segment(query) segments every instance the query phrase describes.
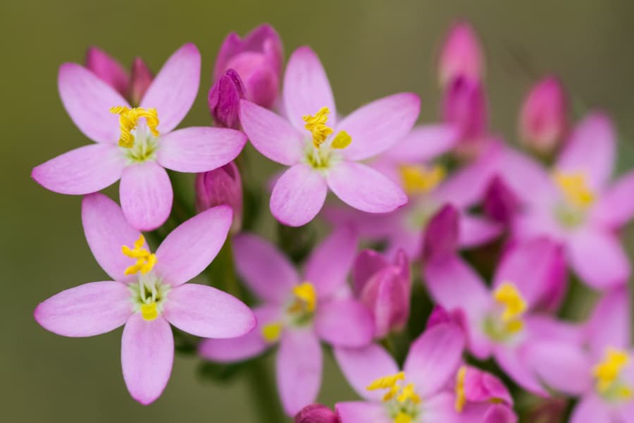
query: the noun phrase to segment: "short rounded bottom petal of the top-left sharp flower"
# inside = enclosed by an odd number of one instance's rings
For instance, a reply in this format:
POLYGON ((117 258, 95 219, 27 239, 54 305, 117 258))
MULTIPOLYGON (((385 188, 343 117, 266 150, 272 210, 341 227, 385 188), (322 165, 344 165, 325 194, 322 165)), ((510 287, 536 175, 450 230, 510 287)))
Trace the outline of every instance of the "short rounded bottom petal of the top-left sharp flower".
POLYGON ((139 231, 161 226, 172 209, 172 184, 156 161, 128 166, 119 185, 119 200, 125 219, 139 231))

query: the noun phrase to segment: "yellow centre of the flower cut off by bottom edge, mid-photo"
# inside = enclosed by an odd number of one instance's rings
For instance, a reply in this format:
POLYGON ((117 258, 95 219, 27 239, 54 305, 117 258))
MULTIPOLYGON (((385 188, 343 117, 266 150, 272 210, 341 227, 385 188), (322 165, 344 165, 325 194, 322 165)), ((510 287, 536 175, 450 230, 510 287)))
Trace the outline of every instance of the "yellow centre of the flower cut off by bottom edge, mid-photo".
POLYGON ((421 397, 416 394, 414 384, 402 386, 405 373, 399 372, 391 376, 381 377, 366 388, 368 391, 387 389, 383 403, 394 423, 411 423, 418 416, 421 397))

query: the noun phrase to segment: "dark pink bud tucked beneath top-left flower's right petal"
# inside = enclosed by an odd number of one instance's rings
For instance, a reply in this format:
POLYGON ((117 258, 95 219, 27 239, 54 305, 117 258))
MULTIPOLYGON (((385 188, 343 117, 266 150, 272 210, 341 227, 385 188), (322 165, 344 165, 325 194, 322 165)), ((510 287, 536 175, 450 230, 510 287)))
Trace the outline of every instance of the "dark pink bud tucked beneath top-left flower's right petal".
POLYGON ((231 232, 242 225, 242 179, 234 162, 196 176, 196 208, 203 212, 211 207, 227 204, 233 209, 231 232))

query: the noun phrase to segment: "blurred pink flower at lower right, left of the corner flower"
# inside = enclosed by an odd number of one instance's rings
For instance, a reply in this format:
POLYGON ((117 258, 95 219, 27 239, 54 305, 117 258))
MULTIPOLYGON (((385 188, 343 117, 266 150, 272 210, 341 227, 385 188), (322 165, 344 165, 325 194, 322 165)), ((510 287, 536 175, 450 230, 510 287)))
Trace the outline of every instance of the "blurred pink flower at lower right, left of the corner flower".
POLYGON ((447 311, 461 309, 468 349, 475 357, 493 355, 506 374, 528 391, 547 396, 526 366, 525 346, 534 338, 580 338, 575 326, 535 313, 534 305, 554 282, 561 250, 546 239, 511 247, 500 262, 491 291, 457 255, 433 257, 424 268, 432 298, 447 311))

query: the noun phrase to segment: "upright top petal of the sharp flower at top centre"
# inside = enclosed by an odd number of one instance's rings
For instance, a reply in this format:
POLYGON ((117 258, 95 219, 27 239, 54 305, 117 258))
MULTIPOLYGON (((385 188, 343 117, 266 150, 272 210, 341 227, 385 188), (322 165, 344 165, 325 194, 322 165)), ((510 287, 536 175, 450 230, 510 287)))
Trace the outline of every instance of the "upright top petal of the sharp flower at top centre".
POLYGON ((321 61, 310 47, 299 47, 288 59, 282 95, 286 116, 302 133, 306 131, 302 116, 314 115, 324 106, 330 109, 328 126, 335 126, 337 108, 330 82, 321 61))

